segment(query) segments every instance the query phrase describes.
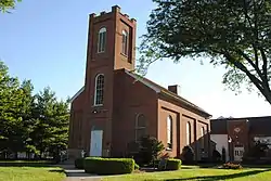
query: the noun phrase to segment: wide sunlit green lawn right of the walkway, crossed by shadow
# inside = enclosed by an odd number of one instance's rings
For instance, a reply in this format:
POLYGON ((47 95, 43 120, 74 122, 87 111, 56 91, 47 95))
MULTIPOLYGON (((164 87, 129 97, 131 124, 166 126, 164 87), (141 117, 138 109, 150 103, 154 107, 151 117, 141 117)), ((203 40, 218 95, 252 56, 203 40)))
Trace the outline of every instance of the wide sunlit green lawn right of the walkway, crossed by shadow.
POLYGON ((216 168, 183 168, 179 171, 133 173, 105 177, 103 181, 269 181, 270 168, 246 168, 243 170, 225 170, 216 168))

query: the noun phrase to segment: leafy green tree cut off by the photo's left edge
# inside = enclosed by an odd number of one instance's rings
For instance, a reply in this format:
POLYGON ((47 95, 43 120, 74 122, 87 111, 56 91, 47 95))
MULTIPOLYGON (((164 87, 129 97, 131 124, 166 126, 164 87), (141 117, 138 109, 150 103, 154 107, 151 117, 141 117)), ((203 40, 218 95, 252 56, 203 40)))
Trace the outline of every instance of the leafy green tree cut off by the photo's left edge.
POLYGON ((0 150, 24 150, 23 108, 24 92, 17 78, 10 77, 8 67, 0 62, 0 150))

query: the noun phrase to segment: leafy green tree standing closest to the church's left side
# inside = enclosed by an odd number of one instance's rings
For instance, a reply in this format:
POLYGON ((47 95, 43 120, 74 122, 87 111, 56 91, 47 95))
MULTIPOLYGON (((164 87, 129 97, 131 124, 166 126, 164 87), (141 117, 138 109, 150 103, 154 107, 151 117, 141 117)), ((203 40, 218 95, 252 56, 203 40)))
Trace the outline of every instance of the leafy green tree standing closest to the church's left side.
POLYGON ((35 96, 33 118, 36 126, 31 133, 33 144, 42 153, 49 152, 56 158, 61 151, 67 148, 68 103, 57 101, 50 88, 44 88, 35 96))

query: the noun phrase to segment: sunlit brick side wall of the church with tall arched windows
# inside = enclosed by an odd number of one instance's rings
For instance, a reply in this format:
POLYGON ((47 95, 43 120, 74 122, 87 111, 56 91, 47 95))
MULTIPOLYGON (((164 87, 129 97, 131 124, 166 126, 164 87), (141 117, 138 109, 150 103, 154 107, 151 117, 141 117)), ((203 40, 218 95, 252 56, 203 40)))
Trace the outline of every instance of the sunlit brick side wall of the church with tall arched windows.
MULTIPOLYGON (((158 100, 158 139, 162 140, 164 143, 167 142, 166 137, 166 118, 168 116, 173 116, 177 118, 173 122, 173 135, 177 135, 176 140, 173 140, 173 150, 171 152, 168 152, 168 154, 172 157, 180 156, 183 146, 186 145, 186 122, 191 124, 191 141, 192 141, 192 147, 195 150, 196 158, 199 159, 199 147, 198 147, 198 140, 201 138, 199 133, 199 126, 209 127, 209 120, 205 119, 203 116, 199 116, 199 114, 190 112, 180 105, 172 104, 168 102, 167 99, 162 98, 158 100), (178 133, 178 124, 180 122, 178 133), (176 133, 175 133, 176 132, 176 133), (180 135, 180 138, 178 138, 180 135), (179 140, 179 141, 178 141, 179 140), (180 144, 178 144, 178 142, 180 144), (177 145, 176 145, 177 144, 177 145)), ((206 135, 206 150, 209 153, 209 135, 206 135)))

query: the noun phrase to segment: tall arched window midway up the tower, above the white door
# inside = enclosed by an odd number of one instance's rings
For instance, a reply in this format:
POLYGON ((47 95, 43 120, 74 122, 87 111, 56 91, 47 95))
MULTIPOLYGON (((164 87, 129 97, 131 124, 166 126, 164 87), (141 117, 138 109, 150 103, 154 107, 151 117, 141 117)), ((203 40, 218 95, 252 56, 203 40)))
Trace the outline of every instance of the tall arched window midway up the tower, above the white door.
POLYGON ((104 75, 99 74, 95 77, 94 105, 103 105, 104 96, 104 75))

